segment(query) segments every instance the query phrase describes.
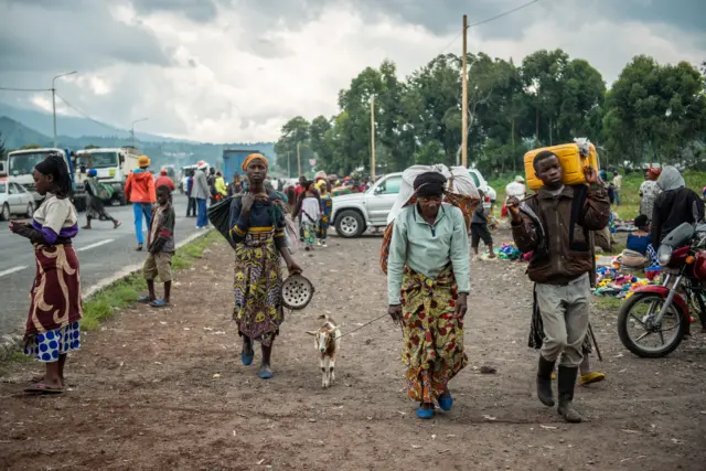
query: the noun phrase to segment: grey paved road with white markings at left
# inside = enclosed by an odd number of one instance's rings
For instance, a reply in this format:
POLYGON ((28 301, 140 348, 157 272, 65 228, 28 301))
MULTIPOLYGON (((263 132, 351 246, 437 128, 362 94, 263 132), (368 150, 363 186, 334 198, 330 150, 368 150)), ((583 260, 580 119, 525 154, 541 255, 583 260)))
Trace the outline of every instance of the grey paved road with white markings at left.
MULTIPOLYGON (((176 242, 196 232, 194 218, 186 218, 186 197, 174 194, 176 211, 176 242)), ((132 206, 113 206, 108 212, 122 223, 113 229, 109 222, 93 224, 92 231, 79 231, 74 239, 74 248, 81 261, 81 283, 85 292, 98 281, 121 268, 140 264, 145 251, 135 251, 135 225, 132 206)), ((79 225, 86 222, 85 213, 79 213, 79 225)), ((146 234, 147 228, 142 229, 146 234)), ((34 255, 32 246, 24 237, 8 229, 7 222, 0 222, 0 335, 22 329, 30 306, 29 290, 34 279, 34 255)))

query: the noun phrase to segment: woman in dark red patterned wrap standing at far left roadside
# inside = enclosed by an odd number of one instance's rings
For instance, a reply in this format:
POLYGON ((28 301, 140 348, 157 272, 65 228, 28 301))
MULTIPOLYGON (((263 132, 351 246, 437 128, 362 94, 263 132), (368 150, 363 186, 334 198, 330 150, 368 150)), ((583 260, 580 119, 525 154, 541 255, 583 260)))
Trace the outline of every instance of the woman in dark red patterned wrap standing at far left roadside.
POLYGON ((32 243, 36 275, 24 331, 24 353, 44 363, 44 377, 25 390, 64 392, 64 365, 81 347, 82 318, 78 258, 72 239, 78 233, 76 208, 68 200, 71 176, 65 160, 52 154, 34 168, 36 191, 46 196, 32 223, 10 222, 10 231, 32 243))

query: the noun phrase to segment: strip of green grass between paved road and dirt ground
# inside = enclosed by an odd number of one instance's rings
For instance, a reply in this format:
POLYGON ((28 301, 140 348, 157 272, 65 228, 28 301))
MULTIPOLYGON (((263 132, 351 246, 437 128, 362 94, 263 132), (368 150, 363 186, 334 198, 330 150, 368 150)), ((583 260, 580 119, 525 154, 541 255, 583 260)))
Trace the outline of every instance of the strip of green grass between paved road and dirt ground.
MULTIPOLYGON (((172 269, 179 271, 190 267, 196 259, 203 257, 203 251, 211 244, 220 238, 221 234, 212 231, 176 249, 172 258, 172 269)), ((145 291, 147 291, 147 283, 140 272, 106 287, 84 301, 84 318, 81 321, 81 329, 84 331, 97 329, 100 321, 113 315, 117 309, 135 304, 139 293, 145 291)))

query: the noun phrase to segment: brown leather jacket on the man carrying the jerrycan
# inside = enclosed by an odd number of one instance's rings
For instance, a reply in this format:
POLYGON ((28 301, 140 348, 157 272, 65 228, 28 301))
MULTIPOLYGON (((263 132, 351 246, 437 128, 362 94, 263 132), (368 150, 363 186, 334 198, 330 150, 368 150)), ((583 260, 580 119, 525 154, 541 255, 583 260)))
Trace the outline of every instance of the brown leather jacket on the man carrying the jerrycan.
POLYGON ((610 217, 605 188, 564 186, 557 196, 542 189, 520 210, 522 223, 513 223, 512 235, 522 253, 534 251, 532 281, 565 285, 593 269, 590 231, 602 229, 610 217))

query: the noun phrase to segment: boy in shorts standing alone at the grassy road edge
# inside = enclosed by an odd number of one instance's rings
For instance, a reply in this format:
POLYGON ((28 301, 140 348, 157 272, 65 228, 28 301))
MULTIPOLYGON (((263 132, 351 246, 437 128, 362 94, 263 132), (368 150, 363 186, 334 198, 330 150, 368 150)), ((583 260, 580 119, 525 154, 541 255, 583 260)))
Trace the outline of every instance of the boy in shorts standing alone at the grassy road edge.
POLYGON ((172 193, 169 188, 164 185, 158 188, 158 206, 152 211, 150 233, 147 238, 149 254, 142 267, 149 295, 139 299, 140 302, 149 303, 153 308, 169 306, 169 297, 172 288, 175 215, 171 202, 172 193), (164 283, 164 299, 157 299, 154 295, 154 278, 158 275, 164 283))

